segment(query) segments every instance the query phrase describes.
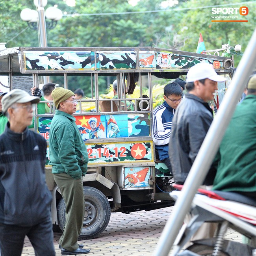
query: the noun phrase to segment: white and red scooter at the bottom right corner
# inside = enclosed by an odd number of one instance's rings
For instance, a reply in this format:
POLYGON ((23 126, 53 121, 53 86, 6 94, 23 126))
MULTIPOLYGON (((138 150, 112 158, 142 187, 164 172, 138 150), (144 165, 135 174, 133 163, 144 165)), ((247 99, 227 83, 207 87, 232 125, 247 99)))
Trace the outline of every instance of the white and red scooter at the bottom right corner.
MULTIPOLYGON (((181 185, 174 187, 182 188, 181 185)), ((170 195, 176 200, 180 193, 176 190, 170 195)), ((172 256, 256 256, 256 199, 232 192, 198 189, 190 213, 191 221, 180 229, 172 256), (193 245, 182 250, 204 222, 218 223, 215 237, 192 241, 193 245), (249 243, 224 239, 228 227, 247 237, 249 243)))

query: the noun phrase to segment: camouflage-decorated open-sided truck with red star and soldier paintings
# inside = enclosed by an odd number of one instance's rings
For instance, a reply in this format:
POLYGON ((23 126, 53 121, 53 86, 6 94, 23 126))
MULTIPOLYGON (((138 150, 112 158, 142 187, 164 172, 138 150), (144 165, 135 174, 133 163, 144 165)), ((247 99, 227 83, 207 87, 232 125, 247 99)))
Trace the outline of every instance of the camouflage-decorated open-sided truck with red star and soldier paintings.
MULTIPOLYGON (((83 177, 85 217, 81 238, 99 236, 111 212, 173 206, 174 201, 163 189, 163 185, 171 186, 172 177, 166 176, 166 165, 156 159, 151 136, 152 111, 157 105, 153 92, 156 84, 185 79, 189 68, 197 63, 211 63, 218 74, 232 77, 231 58, 162 48, 18 47, 0 51, 0 81, 3 76, 8 78, 5 84, 0 82, 1 88, 12 90, 14 79, 22 81, 27 76, 32 78, 30 87, 39 87, 43 78, 55 76, 61 77, 60 86, 67 89, 74 76, 91 83, 91 91, 78 100, 74 113, 89 155, 88 171, 83 177), (98 81, 109 78, 117 80, 115 98, 104 98, 98 90, 98 81), (128 109, 129 104, 133 109, 128 109)), ((219 86, 225 89, 227 84, 219 86)), ((56 109, 51 101, 44 104, 50 111, 39 114, 35 110, 34 130, 49 143, 56 109)), ((63 229, 65 202, 48 161, 47 154, 45 173, 53 197, 52 221, 63 229)))

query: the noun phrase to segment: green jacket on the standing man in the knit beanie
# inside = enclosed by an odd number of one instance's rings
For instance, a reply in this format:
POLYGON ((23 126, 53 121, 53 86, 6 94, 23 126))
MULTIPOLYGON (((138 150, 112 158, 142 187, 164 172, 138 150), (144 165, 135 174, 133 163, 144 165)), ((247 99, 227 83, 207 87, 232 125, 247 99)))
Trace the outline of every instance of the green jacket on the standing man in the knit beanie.
POLYGON ((87 172, 87 149, 76 126, 76 119, 57 110, 50 127, 49 164, 52 173, 67 173, 78 180, 87 172))

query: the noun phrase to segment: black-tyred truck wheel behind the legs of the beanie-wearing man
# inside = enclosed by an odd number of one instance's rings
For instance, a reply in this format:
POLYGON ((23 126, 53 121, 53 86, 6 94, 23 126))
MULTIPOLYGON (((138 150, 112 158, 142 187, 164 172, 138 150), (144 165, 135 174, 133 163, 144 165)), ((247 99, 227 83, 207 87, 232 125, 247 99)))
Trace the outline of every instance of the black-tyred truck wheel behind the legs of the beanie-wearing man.
MULTIPOLYGON (((98 237, 108 226, 110 219, 110 205, 106 196, 94 187, 83 187, 85 200, 85 214, 83 228, 80 234, 82 239, 93 239, 98 237)), ((59 200, 57 214, 58 224, 61 230, 66 221, 66 206, 64 199, 59 200)))

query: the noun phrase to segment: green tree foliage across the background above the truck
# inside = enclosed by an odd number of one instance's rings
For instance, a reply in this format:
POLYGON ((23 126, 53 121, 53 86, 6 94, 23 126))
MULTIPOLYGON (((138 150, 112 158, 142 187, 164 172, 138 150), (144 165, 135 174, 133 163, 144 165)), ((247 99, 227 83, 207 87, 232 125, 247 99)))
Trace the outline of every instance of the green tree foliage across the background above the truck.
MULTIPOLYGON (((128 0, 76 0, 76 6, 69 7, 63 0, 48 0, 45 9, 57 4, 64 13, 56 28, 47 30, 48 46, 156 46, 195 52, 202 33, 206 50, 221 48, 230 39, 232 46, 239 44, 244 52, 256 27, 253 1, 246 4, 249 15, 238 14, 248 22, 211 22, 212 7, 240 7, 239 0, 232 4, 228 0, 180 0, 173 7, 163 7, 162 2, 139 0, 131 6, 128 0)), ((0 38, 6 47, 39 46, 37 30, 20 19, 25 7, 35 9, 33 0, 0 0, 0 38)), ((86 79, 74 79, 72 86, 88 90, 86 79)), ((102 92, 105 89, 106 80, 102 80, 102 92)))

